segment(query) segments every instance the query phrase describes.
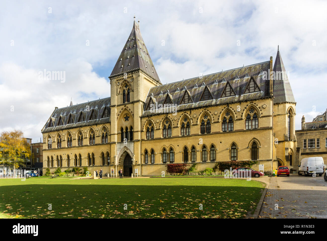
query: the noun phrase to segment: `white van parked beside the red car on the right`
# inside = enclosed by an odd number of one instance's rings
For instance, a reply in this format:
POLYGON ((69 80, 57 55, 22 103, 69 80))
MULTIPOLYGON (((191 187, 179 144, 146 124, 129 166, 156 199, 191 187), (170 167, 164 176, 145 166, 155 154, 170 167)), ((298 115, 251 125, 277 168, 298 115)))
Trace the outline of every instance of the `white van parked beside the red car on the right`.
POLYGON ((313 175, 313 173, 319 174, 319 176, 322 176, 322 174, 325 171, 325 165, 324 160, 322 157, 307 157, 303 158, 301 160, 299 167, 299 175, 304 174, 305 176, 313 175))

